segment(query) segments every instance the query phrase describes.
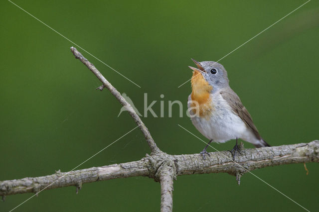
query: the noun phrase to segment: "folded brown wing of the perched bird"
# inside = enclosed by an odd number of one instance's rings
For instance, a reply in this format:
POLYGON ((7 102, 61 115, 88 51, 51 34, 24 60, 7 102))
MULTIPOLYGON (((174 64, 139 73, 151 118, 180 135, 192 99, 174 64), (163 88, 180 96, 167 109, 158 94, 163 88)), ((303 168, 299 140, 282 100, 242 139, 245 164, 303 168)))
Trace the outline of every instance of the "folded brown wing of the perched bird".
POLYGON ((243 106, 243 104, 241 103, 237 94, 231 89, 222 90, 220 94, 222 98, 231 106, 234 113, 239 115, 239 117, 243 119, 243 121, 252 129, 252 131, 258 139, 261 139, 261 136, 259 135, 259 132, 253 122, 253 119, 251 118, 246 107, 243 106))

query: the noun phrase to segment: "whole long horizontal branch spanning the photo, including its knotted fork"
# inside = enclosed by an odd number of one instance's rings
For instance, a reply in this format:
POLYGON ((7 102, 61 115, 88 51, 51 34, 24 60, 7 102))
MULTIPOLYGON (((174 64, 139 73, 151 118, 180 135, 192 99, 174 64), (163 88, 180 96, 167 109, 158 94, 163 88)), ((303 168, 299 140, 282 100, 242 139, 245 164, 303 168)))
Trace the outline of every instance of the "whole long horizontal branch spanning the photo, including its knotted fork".
MULTIPOLYGON (((45 187, 47 187, 45 190, 67 186, 81 188, 84 183, 134 176, 147 176, 160 182, 166 181, 168 184, 162 189, 171 192, 172 183, 170 183, 170 178, 174 179, 175 176, 179 175, 224 172, 240 177, 247 171, 268 166, 291 163, 318 163, 319 141, 244 149, 241 154, 241 156, 235 158, 236 162, 233 162, 231 153, 228 151, 210 152, 209 157, 206 157, 205 160, 200 154, 168 155, 160 152, 147 155, 140 161, 92 167, 65 173, 56 172, 53 175, 43 177, 0 181, 0 196, 37 193, 45 187), (167 166, 170 168, 169 175, 164 174, 165 171, 167 173, 167 166)), ((167 203, 170 202, 168 201, 167 203)), ((170 205, 166 206, 169 207, 170 205)))

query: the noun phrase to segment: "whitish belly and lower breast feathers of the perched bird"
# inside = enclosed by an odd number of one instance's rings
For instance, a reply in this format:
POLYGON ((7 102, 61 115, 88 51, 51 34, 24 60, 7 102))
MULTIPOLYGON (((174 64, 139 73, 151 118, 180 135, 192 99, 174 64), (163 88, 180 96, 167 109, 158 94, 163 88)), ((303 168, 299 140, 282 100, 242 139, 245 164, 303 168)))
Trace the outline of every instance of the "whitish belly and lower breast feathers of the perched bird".
POLYGON ((236 138, 250 143, 255 143, 258 140, 246 123, 233 113, 232 108, 221 96, 212 97, 212 102, 214 102, 215 108, 210 118, 198 116, 191 118, 196 129, 206 138, 219 143, 236 138))

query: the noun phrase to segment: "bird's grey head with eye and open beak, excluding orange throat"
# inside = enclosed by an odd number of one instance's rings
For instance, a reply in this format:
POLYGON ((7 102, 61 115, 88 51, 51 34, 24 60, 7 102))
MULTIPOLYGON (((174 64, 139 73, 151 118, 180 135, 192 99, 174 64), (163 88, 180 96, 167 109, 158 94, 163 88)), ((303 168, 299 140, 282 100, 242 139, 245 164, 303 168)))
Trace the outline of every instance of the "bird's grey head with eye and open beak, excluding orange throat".
POLYGON ((229 87, 227 71, 224 66, 214 61, 197 62, 194 59, 192 59, 192 61, 196 64, 198 69, 190 66, 189 68, 194 70, 197 74, 200 73, 209 85, 214 88, 213 91, 229 87))

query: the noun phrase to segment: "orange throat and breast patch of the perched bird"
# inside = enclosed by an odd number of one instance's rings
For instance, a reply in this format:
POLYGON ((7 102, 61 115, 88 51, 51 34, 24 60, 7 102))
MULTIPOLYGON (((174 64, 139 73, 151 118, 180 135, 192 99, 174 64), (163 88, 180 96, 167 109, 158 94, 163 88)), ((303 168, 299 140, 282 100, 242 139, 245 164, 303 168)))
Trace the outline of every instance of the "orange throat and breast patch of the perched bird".
POLYGON ((193 71, 191 89, 190 98, 192 101, 198 103, 198 105, 194 102, 190 104, 192 112, 199 117, 209 119, 213 110, 213 104, 210 98, 210 92, 213 90, 213 87, 209 85, 201 73, 193 71))

